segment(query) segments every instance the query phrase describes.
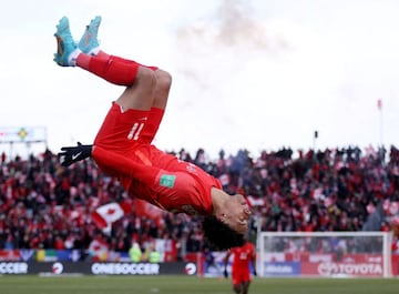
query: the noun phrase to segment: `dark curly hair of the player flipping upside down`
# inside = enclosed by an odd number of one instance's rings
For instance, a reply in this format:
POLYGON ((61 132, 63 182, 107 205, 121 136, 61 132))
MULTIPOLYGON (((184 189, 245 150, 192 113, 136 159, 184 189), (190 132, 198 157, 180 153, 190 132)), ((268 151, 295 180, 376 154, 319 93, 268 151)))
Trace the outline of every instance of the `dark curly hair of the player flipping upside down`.
POLYGON ((244 235, 231 229, 215 215, 205 216, 202 222, 205 239, 215 250, 228 250, 244 245, 244 235))

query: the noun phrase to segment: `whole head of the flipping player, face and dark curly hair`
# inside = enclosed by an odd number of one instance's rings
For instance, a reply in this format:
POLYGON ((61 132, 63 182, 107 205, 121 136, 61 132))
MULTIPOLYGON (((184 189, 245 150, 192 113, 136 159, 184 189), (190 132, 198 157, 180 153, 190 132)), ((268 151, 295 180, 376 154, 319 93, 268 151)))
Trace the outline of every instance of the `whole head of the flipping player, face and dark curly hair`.
POLYGON ((205 237, 219 250, 242 246, 248 231, 249 216, 250 211, 243 195, 228 196, 218 214, 205 217, 205 237))

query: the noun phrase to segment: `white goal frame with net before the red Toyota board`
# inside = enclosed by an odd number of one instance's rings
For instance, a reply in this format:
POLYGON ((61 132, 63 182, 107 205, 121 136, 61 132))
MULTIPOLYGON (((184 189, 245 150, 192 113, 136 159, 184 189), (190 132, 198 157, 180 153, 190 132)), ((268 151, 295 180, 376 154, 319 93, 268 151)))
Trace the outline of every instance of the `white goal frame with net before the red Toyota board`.
POLYGON ((391 232, 259 232, 258 275, 390 277, 391 232))

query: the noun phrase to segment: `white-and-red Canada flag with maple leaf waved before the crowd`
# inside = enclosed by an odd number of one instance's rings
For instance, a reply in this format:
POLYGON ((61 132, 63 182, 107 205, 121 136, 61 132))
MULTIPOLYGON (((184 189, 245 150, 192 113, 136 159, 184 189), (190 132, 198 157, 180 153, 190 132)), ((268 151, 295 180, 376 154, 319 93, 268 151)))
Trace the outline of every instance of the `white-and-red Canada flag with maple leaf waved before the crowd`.
POLYGON ((123 215, 132 212, 132 204, 125 202, 111 202, 99 206, 92 212, 92 221, 103 230, 104 233, 111 233, 112 223, 122 219, 123 215))

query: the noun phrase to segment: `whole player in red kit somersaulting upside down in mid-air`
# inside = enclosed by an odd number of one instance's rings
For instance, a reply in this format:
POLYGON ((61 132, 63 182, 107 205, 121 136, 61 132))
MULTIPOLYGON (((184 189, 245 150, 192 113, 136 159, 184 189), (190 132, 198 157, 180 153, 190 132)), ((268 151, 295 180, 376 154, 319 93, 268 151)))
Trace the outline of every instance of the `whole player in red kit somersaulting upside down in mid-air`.
POLYGON ((165 112, 171 74, 105 53, 98 42, 100 23, 101 17, 95 17, 75 42, 68 18, 62 18, 54 61, 86 70, 124 91, 112 102, 93 144, 62 148, 61 164, 91 156, 131 196, 172 213, 203 215, 204 236, 216 249, 243 245, 250 216, 245 197, 227 194, 217 179, 152 144, 165 112))

